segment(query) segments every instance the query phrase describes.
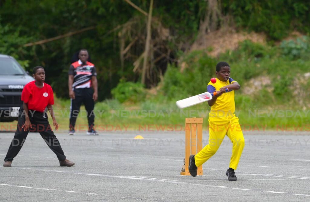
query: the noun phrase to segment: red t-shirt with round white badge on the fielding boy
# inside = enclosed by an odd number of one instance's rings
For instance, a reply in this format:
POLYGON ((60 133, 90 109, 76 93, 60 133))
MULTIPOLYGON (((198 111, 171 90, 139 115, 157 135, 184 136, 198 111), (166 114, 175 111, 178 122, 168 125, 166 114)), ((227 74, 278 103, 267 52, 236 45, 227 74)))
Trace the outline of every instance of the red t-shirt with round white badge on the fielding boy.
POLYGON ((28 104, 29 110, 44 112, 48 104, 54 104, 53 89, 46 83, 42 88, 38 88, 34 82, 31 81, 25 85, 21 100, 28 104))

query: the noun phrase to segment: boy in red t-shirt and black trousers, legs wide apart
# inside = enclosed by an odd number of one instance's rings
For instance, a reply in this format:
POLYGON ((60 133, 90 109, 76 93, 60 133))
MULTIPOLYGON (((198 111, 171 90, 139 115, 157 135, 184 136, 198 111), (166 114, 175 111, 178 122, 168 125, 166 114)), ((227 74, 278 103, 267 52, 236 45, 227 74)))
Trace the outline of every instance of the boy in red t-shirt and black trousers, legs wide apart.
POLYGON ((58 123, 56 122, 52 107, 54 104, 54 94, 51 86, 44 83, 45 71, 43 67, 34 67, 32 76, 35 81, 26 84, 21 94, 23 106, 19 110, 17 129, 7 151, 3 166, 11 166, 13 158, 18 154, 29 131, 31 131, 40 133, 50 149, 56 154, 60 166, 71 167, 74 163, 66 159, 64 151, 47 119, 46 108, 48 108, 51 114, 55 130, 57 130, 58 123))

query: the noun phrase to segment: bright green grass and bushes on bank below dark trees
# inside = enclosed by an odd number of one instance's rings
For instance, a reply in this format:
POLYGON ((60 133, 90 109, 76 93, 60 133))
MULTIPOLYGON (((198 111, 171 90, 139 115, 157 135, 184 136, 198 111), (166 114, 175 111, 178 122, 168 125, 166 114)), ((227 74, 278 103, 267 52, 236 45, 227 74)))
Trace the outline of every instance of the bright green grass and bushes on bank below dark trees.
MULTIPOLYGON (((309 43, 309 40, 304 43, 309 43)), ((282 45, 271 47, 250 41, 242 42, 237 50, 221 54, 219 58, 209 57, 204 51, 189 54, 184 61, 191 65, 183 73, 179 67, 169 66, 157 94, 145 91, 140 84, 122 80, 112 90, 116 99, 96 104, 97 127, 101 127, 101 131, 180 131, 184 130, 186 117, 204 117, 204 129, 207 130, 210 111, 207 103, 178 109, 175 101, 204 92, 210 78, 215 75, 218 60, 229 62, 231 77, 241 84, 241 90, 235 93, 235 113, 243 130, 310 130, 310 82, 304 77, 304 73, 309 71, 310 60, 286 56, 282 45), (260 77, 262 81, 270 82, 251 86, 250 81, 260 81, 260 77), (253 92, 247 93, 245 88, 253 92), (298 96, 293 91, 299 92, 298 96)), ((68 100, 56 100, 56 116, 62 123, 60 129, 67 129, 64 123, 68 123, 69 105, 68 100)), ((85 111, 78 118, 77 125, 86 128, 85 111)))

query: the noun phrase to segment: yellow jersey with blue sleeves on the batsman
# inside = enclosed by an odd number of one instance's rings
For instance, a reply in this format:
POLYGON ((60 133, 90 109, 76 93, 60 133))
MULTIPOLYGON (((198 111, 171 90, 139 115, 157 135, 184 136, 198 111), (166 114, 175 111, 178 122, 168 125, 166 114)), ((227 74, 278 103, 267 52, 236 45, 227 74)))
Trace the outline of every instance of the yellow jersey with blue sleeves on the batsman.
MULTIPOLYGON (((226 82, 221 81, 218 78, 215 79, 216 79, 215 83, 212 83, 211 81, 208 83, 207 91, 209 93, 213 93, 215 90, 219 90, 220 88, 226 85, 232 84, 233 82, 237 82, 232 78, 229 78, 226 82)), ((215 111, 222 111, 228 113, 235 112, 235 92, 233 90, 227 93, 223 93, 216 99, 216 102, 211 107, 211 112, 215 111)))

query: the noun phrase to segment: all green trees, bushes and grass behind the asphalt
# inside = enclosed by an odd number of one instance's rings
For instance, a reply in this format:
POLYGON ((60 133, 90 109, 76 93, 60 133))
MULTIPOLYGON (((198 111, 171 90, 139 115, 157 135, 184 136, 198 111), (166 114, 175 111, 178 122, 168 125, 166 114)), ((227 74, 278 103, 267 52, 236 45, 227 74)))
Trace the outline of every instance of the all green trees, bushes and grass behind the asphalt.
MULTIPOLYGON (((132 2, 148 12, 148 1, 132 2)), ((71 57, 80 48, 89 50, 97 67, 97 125, 128 125, 138 130, 154 124, 183 126, 185 117, 204 117, 207 128, 207 103, 180 110, 175 101, 205 92, 215 76, 216 63, 226 61, 231 65, 231 77, 241 85, 235 93, 241 125, 267 125, 265 129, 272 130, 287 124, 306 127, 310 117, 310 81, 305 75, 310 67, 310 2, 220 2, 216 9, 209 8, 208 1, 198 0, 154 3, 146 85, 140 84, 146 17, 125 1, 1 1, 0 52, 15 57, 30 72, 34 66, 45 67, 46 81, 58 97, 55 109, 60 129, 67 129, 69 122, 67 74, 71 57), (213 15, 210 11, 219 12, 213 15), (201 30, 206 21, 209 24, 201 30), (208 54, 212 47, 189 51, 199 33, 222 25, 263 32, 267 44, 244 41, 216 58, 208 54), (24 46, 86 27, 91 28, 24 46), (281 41, 294 30, 304 36, 281 41)), ((87 124, 86 118, 78 118, 77 124, 87 124)))

